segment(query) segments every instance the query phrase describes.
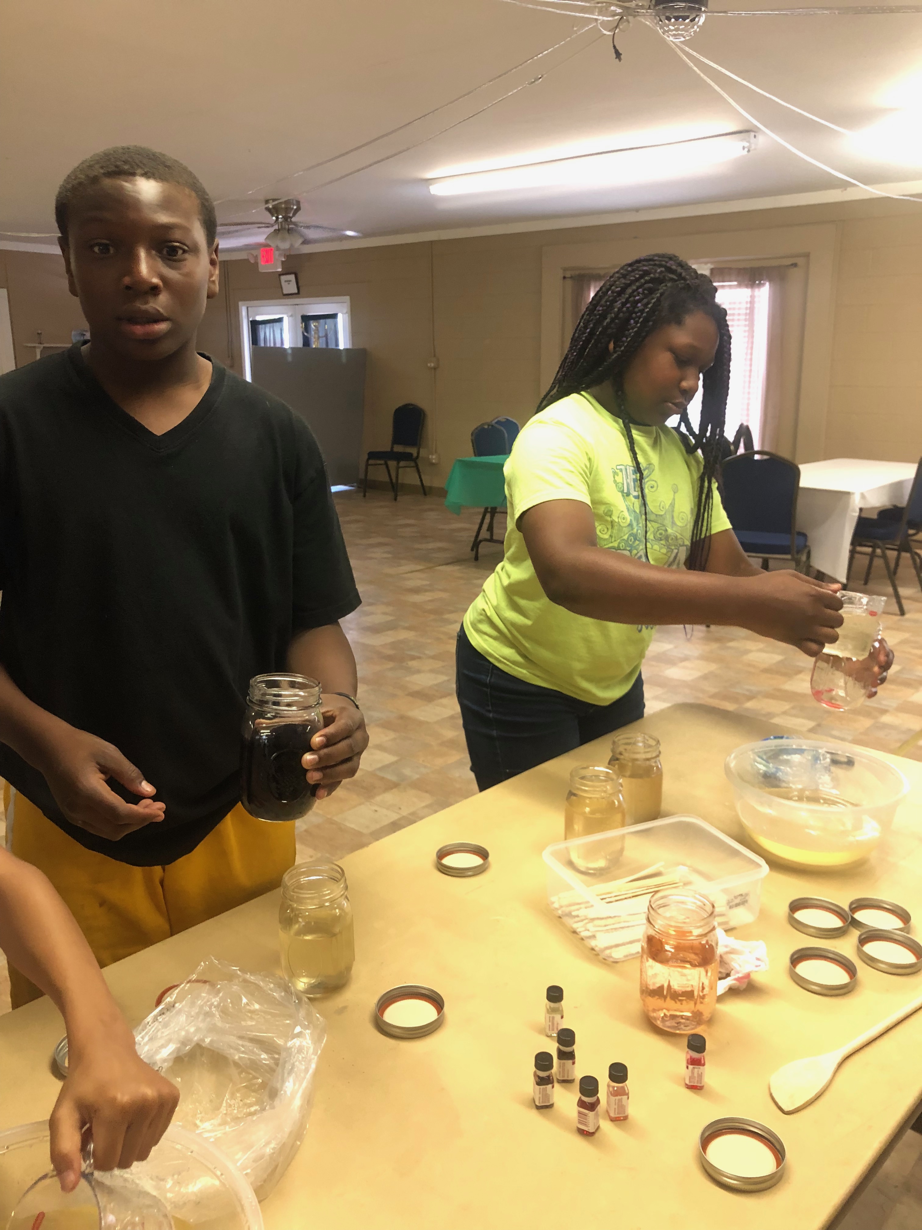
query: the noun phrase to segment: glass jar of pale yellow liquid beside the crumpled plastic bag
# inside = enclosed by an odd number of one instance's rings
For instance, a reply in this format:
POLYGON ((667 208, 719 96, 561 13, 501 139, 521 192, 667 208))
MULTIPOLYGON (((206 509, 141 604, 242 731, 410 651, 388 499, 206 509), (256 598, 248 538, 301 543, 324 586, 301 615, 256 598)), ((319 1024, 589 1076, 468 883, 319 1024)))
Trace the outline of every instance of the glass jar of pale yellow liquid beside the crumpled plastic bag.
POLYGON ((304 995, 344 986, 355 962, 345 872, 336 862, 302 862, 282 878, 282 968, 304 995))

